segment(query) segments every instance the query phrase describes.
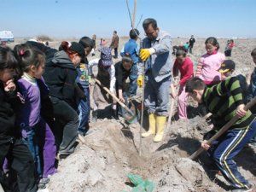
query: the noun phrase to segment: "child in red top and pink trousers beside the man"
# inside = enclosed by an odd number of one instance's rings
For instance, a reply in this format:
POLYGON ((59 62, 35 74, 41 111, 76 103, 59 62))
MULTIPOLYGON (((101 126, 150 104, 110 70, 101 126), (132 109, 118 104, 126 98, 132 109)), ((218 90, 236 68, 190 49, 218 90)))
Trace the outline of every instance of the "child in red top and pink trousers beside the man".
MULTIPOLYGON (((181 73, 179 81, 178 101, 177 101, 177 113, 179 119, 187 119, 187 98, 188 93, 185 92, 185 84, 188 79, 193 76, 193 62, 187 56, 187 53, 183 49, 177 49, 176 60, 173 66, 173 77, 177 77, 178 71, 181 73)), ((177 86, 177 84, 175 84, 177 86)), ((173 95, 175 98, 175 94, 173 95)))

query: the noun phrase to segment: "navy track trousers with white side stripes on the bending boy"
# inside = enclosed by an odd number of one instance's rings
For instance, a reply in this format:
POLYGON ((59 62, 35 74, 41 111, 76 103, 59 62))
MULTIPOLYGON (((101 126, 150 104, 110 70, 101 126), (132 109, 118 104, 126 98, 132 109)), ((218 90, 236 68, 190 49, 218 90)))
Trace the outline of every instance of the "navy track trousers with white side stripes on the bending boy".
POLYGON ((233 158, 252 139, 256 132, 256 121, 242 130, 229 130, 212 143, 208 154, 218 166, 225 179, 235 188, 247 188, 247 180, 238 172, 233 158))

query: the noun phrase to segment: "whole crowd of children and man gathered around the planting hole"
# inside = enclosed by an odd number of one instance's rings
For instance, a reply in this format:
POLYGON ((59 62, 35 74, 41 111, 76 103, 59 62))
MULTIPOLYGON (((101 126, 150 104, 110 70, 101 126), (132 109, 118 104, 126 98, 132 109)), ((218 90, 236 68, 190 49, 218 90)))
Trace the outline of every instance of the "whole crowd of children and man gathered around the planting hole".
MULTIPOLYGON (((212 113, 211 134, 238 116, 240 119, 222 137, 212 145, 204 141, 201 147, 233 191, 253 189, 237 170, 233 158, 247 143, 255 146, 256 142, 255 108, 244 110, 256 95, 255 69, 245 94, 241 78, 232 76, 236 64, 219 52, 217 38, 206 39, 206 54, 201 55, 194 73, 194 63, 189 58, 194 36, 185 48, 176 50, 173 62, 170 34, 151 18, 143 21, 143 30, 146 37, 139 45, 140 32, 131 29, 130 39, 120 52, 122 59, 116 64, 112 59, 118 58, 116 31, 110 46, 101 40, 100 58, 90 61, 87 56, 96 51, 95 35, 80 38, 79 42, 64 41, 59 49, 35 40, 17 44, 14 49, 0 47, 0 182, 6 191, 44 190, 50 176, 57 172, 56 160, 73 154, 79 137, 89 133, 91 78, 101 83, 92 90, 93 121, 98 117, 100 102, 111 103, 115 117, 122 115, 112 94, 125 103, 128 97, 137 95, 137 87, 144 89, 149 127, 142 137, 153 136, 155 143, 164 137, 170 95, 177 98, 179 119, 188 119, 189 96, 204 105, 212 113), (143 69, 139 63, 143 63, 143 69), (96 77, 92 73, 94 66, 98 67, 96 77), (130 79, 129 89, 126 79, 130 79)), ((232 41, 229 50, 233 47, 232 41)), ((251 55, 256 64, 256 49, 251 55)))

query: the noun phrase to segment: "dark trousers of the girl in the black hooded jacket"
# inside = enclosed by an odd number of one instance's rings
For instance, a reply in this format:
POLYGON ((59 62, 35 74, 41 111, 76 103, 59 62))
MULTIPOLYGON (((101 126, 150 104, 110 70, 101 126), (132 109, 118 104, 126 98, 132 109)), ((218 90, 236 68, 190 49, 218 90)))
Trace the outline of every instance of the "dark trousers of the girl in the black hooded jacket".
POLYGON ((78 137, 78 113, 65 101, 55 97, 50 98, 53 103, 55 128, 53 129, 59 154, 73 154, 78 137), (63 125, 63 126, 62 126, 63 125))

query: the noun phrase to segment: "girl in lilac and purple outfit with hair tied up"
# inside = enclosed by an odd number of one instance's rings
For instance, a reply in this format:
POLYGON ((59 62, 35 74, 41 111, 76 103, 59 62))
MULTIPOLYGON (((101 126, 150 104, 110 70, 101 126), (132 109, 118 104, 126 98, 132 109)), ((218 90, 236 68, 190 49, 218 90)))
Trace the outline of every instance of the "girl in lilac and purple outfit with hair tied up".
POLYGON ((18 109, 17 125, 30 149, 37 168, 39 189, 49 183, 49 176, 55 173, 55 137, 41 117, 41 98, 48 96, 44 84, 44 53, 26 44, 15 46, 15 53, 23 71, 18 80, 19 91, 24 101, 18 109), (44 158, 41 159, 41 156, 44 158))

